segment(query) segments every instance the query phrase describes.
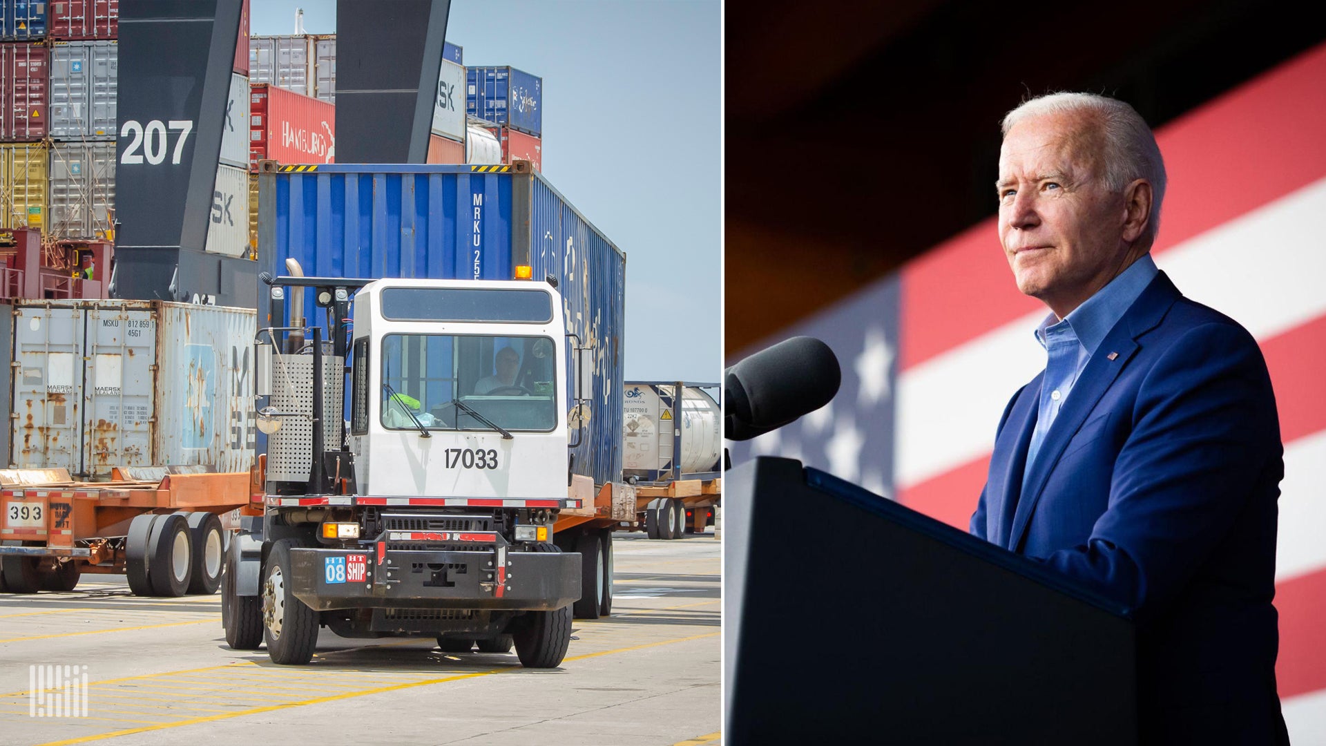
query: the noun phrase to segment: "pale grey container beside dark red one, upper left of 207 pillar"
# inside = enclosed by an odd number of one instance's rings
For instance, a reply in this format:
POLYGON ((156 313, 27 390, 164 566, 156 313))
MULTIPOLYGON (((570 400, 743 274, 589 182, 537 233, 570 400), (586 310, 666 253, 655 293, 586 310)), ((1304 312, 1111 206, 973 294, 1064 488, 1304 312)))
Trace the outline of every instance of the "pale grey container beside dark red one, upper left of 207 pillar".
POLYGON ((115 137, 119 44, 57 41, 50 49, 50 137, 115 137))

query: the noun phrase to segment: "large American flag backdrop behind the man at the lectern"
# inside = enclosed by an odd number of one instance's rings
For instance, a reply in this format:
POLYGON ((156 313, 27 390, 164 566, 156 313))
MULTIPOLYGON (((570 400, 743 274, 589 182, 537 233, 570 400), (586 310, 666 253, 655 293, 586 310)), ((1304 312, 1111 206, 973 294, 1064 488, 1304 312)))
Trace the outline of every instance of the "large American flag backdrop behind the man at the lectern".
MULTIPOLYGON (((1326 45, 1156 139, 1170 185, 1152 255, 1246 327, 1270 368, 1285 443, 1277 681, 1293 742, 1326 745, 1326 45)), ((797 458, 965 530, 1000 413, 1045 366, 1032 335, 1045 313, 1017 292, 991 218, 747 350, 819 337, 843 385, 781 430, 728 442, 732 462, 797 458)))

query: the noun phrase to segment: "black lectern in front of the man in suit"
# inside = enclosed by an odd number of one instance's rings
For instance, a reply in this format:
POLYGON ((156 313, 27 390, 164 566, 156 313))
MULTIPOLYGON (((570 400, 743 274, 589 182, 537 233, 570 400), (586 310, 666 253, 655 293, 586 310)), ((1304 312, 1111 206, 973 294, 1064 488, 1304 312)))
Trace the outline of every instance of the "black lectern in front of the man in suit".
POLYGON ((725 482, 725 743, 1136 742, 1116 604, 796 461, 725 482))

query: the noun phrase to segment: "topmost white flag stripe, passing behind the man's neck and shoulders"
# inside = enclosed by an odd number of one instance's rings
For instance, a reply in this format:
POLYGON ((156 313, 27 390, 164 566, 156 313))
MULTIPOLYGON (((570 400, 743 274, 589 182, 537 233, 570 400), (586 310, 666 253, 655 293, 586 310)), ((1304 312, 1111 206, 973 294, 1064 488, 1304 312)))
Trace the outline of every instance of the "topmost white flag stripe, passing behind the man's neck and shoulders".
MULTIPOLYGON (((1184 295, 1266 338, 1326 313, 1323 236, 1326 179, 1193 236, 1156 263, 1184 295)), ((900 488, 989 453, 1004 405, 1045 365, 1032 337, 1041 319, 1005 324, 899 376, 900 488)))

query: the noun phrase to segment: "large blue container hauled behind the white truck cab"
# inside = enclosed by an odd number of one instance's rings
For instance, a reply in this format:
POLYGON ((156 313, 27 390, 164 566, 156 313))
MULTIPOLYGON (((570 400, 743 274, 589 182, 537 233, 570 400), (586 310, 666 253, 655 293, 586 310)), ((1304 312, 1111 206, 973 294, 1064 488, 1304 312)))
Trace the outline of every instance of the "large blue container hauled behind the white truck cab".
MULTIPOLYGON (((622 479, 626 255, 541 174, 517 166, 284 169, 292 170, 259 175, 259 261, 273 276, 286 273, 286 258, 321 277, 509 280, 517 264, 532 265, 534 277, 556 276, 568 331, 598 358, 574 470, 597 485, 622 479)), ((312 296, 304 316, 321 320, 312 296)))

